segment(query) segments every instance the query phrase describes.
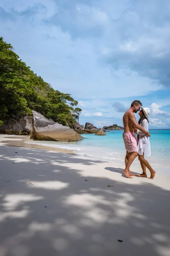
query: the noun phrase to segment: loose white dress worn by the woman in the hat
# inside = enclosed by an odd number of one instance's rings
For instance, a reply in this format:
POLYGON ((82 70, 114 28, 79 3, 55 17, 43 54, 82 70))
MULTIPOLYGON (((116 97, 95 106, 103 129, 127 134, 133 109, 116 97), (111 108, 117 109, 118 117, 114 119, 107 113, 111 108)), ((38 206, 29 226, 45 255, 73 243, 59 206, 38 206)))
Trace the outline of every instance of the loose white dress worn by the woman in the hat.
MULTIPOLYGON (((146 130, 148 130, 148 122, 147 119, 144 119, 141 123, 141 126, 146 130)), ((149 137, 147 137, 142 131, 137 130, 136 132, 139 134, 139 140, 138 140, 138 154, 142 155, 143 152, 147 157, 150 157, 151 151, 150 151, 150 140, 149 137)))

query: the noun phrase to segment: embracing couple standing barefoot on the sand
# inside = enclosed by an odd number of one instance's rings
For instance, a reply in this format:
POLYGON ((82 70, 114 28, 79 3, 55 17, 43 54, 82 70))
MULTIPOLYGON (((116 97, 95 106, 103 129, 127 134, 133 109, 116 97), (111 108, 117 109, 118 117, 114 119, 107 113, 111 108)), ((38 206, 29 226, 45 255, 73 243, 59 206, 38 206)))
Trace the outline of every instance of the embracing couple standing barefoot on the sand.
POLYGON ((142 108, 142 103, 139 100, 132 102, 130 108, 125 112, 123 116, 124 133, 123 140, 126 148, 125 156, 125 170, 123 175, 127 178, 135 176, 130 172, 130 165, 133 160, 139 156, 139 161, 142 167, 142 174, 136 175, 137 177, 147 177, 146 167, 150 171, 150 178, 155 177, 156 172, 152 169, 148 161, 144 158, 151 155, 150 151, 150 133, 148 131, 148 115, 150 114, 149 108, 142 108), (139 111, 139 122, 136 121, 134 113, 139 111), (136 135, 137 134, 137 138, 136 135))

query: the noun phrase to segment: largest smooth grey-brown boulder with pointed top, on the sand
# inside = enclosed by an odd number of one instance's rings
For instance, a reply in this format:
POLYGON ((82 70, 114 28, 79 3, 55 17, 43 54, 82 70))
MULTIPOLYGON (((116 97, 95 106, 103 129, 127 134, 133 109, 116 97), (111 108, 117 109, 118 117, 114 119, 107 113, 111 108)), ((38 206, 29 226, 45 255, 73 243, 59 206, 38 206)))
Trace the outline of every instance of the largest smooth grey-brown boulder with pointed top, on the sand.
POLYGON ((32 111, 32 113, 33 129, 31 133, 31 139, 66 142, 82 139, 82 136, 70 127, 60 125, 53 120, 49 120, 36 111, 32 111))

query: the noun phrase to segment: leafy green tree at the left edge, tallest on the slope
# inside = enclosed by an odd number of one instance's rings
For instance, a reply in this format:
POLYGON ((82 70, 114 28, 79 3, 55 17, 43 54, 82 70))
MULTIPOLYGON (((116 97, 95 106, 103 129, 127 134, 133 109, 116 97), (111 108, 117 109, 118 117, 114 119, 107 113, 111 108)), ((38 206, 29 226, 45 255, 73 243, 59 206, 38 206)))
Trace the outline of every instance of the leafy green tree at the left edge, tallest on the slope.
POLYGON ((11 44, 0 38, 0 118, 11 113, 26 113, 25 95, 34 89, 29 82, 30 69, 13 52, 11 44))

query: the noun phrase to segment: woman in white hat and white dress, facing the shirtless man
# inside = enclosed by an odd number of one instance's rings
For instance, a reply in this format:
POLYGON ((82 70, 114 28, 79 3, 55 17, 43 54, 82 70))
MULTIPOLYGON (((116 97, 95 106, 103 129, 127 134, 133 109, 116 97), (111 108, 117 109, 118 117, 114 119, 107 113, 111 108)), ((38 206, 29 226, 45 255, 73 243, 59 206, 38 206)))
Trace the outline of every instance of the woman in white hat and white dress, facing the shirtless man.
MULTIPOLYGON (((148 129, 148 115, 150 114, 150 110, 149 108, 142 108, 141 111, 139 111, 139 125, 141 125, 145 130, 149 130, 148 129)), ((150 170, 150 178, 151 180, 153 180, 153 178, 155 177, 156 172, 152 169, 152 167, 150 166, 150 164, 147 162, 146 159, 144 159, 144 154, 149 157, 151 155, 150 152, 150 141, 149 141, 149 137, 146 136, 146 134, 142 133, 142 131, 137 130, 136 134, 138 134, 137 139, 138 139, 138 154, 139 154, 139 161, 141 163, 141 167, 142 167, 142 174, 136 175, 137 177, 147 177, 146 174, 146 167, 147 169, 150 170)))

